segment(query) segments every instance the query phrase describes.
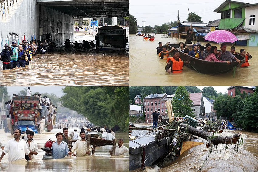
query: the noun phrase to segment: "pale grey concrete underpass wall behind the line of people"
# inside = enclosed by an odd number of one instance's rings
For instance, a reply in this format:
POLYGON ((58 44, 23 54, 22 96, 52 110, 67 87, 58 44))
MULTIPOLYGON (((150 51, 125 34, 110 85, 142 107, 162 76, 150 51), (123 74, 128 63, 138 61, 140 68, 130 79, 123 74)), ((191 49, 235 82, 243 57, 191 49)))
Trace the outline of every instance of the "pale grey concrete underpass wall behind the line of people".
MULTIPOLYGON (((65 39, 73 41, 73 17, 41 6, 41 27, 44 39, 47 33, 56 45, 63 45, 65 39)), ((12 41, 31 41, 39 37, 39 5, 36 0, 23 0, 8 22, 0 23, 0 49, 12 41)))

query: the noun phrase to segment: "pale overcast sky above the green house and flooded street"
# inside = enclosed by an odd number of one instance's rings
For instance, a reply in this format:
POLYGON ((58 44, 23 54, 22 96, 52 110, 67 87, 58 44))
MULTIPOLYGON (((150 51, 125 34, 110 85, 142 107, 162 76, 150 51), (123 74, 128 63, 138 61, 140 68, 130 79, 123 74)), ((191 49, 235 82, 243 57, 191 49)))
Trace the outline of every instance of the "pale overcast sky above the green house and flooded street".
MULTIPOLYGON (((237 2, 246 2, 250 4, 258 3, 258 0, 235 0, 237 2)), ((179 18, 180 22, 188 18, 188 8, 202 18, 202 21, 209 23, 216 19, 221 19, 221 14, 214 12, 225 0, 184 0, 184 1, 149 1, 149 0, 130 0, 129 13, 137 19, 137 25, 143 26, 142 21, 146 21, 144 26, 162 25, 174 22, 179 18)))

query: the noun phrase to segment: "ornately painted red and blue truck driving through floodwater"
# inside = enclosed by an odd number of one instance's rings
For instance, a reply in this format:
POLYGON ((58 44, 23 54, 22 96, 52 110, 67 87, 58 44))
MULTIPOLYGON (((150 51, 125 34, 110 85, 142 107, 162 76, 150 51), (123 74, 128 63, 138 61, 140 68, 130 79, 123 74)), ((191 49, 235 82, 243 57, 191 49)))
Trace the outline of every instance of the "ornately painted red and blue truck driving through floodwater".
POLYGON ((17 96, 13 98, 12 104, 12 126, 25 133, 26 126, 38 133, 40 120, 39 98, 31 96, 17 96))

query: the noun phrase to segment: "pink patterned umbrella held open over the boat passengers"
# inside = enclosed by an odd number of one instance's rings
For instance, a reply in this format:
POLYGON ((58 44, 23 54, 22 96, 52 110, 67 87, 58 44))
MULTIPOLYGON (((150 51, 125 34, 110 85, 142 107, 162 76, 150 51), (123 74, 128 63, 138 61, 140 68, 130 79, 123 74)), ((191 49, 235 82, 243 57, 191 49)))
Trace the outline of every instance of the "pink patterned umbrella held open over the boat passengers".
POLYGON ((238 39, 236 38, 236 36, 226 30, 214 30, 212 32, 209 32, 207 35, 205 35, 204 40, 207 41, 214 41, 214 42, 235 42, 238 41, 238 39))

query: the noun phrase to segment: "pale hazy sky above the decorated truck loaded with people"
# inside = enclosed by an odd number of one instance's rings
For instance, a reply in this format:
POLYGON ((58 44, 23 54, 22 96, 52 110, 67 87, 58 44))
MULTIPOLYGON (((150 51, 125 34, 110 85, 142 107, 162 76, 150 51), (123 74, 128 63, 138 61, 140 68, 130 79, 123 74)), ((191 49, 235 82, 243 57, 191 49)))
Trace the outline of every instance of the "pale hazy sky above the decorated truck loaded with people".
MULTIPOLYGON (((30 86, 30 90, 32 93, 54 93, 56 96, 63 96, 62 88, 65 86, 30 86)), ((19 93, 24 88, 28 88, 28 86, 7 86, 8 95, 12 96, 12 93, 19 93)), ((44 96, 44 95, 43 95, 44 96)))

